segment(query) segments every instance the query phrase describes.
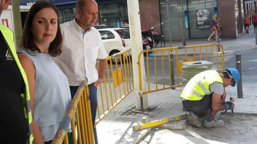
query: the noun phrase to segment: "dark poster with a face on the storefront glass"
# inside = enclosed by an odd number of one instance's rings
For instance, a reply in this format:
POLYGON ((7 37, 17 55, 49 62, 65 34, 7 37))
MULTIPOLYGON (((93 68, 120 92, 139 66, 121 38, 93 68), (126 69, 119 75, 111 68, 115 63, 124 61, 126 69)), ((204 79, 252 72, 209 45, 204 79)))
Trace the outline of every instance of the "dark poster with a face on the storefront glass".
POLYGON ((196 11, 196 22, 197 29, 206 29, 210 28, 210 11, 209 10, 197 10, 196 11))

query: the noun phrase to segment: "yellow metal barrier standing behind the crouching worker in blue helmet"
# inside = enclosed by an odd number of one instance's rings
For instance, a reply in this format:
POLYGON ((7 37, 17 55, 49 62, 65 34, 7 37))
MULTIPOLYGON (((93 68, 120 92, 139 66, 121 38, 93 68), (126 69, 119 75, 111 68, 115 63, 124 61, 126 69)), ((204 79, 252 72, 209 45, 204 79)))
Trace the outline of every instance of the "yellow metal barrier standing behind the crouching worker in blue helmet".
MULTIPOLYGON (((160 48, 160 49, 151 49, 143 50, 138 55, 138 74, 139 74, 139 95, 140 95, 140 104, 141 111, 143 111, 143 95, 147 93, 152 93, 160 90, 166 90, 170 88, 176 88, 182 86, 180 84, 182 70, 182 62, 189 61, 210 61, 216 63, 214 69, 219 72, 219 70, 224 70, 224 49, 223 45, 218 44, 207 44, 207 45, 190 45, 183 47, 169 47, 169 48, 160 48), (219 47, 221 52, 219 52, 219 47), (164 55, 164 53, 166 55, 164 55), (146 90, 143 90, 142 86, 142 70, 141 70, 141 61, 140 57, 144 54, 146 56, 145 62, 145 71, 146 79, 143 81, 147 82, 146 90), (172 55, 173 54, 173 55, 172 55), (165 57, 168 55, 168 58, 165 57), (150 58, 150 56, 152 58, 150 58), (175 62, 171 61, 174 56, 175 62), (168 62, 167 62, 168 61, 168 62), (174 62, 174 63, 173 63, 174 62), (176 70, 172 70, 172 63, 176 65, 176 70), (149 69, 149 65, 154 65, 154 71, 149 69), (161 71, 157 72, 157 67, 161 67, 161 71), (150 77, 150 71, 154 72, 154 79, 150 77), (161 73, 161 76, 158 74, 161 73), (172 78, 176 75, 176 78, 172 78), (158 78, 160 78, 158 80, 158 78), (152 81, 152 82, 150 82, 152 81), (150 86, 150 83, 155 83, 154 87, 150 86), (158 83, 161 83, 162 86, 158 87, 158 83), (168 85, 167 85, 168 84, 168 85)), ((175 67, 175 66, 174 66, 175 67)))

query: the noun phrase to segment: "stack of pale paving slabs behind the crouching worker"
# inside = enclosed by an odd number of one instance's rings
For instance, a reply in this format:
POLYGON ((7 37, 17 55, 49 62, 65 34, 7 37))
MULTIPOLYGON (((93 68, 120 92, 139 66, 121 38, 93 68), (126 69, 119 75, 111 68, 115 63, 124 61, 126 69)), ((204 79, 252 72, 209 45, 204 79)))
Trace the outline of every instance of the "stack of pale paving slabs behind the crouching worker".
POLYGON ((192 61, 182 63, 184 66, 181 67, 183 73, 182 85, 185 86, 190 79, 196 74, 206 70, 213 70, 213 63, 209 61, 192 61))

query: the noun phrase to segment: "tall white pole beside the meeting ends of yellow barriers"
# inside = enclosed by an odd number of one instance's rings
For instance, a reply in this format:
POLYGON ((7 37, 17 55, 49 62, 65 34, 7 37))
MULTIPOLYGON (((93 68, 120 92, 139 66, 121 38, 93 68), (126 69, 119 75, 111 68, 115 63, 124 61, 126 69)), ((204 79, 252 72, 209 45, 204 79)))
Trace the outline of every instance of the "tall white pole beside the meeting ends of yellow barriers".
MULTIPOLYGON (((131 54, 133 66, 133 79, 134 79, 134 92, 136 93, 136 109, 140 110, 140 97, 139 93, 139 76, 138 76, 138 54, 143 50, 140 13, 138 0, 128 0, 128 13, 129 13, 129 31, 131 40, 131 54)), ((141 55, 141 76, 142 76, 142 90, 146 90, 145 82, 145 64, 143 54, 141 55)), ((147 95, 143 95, 143 109, 148 109, 147 95)))

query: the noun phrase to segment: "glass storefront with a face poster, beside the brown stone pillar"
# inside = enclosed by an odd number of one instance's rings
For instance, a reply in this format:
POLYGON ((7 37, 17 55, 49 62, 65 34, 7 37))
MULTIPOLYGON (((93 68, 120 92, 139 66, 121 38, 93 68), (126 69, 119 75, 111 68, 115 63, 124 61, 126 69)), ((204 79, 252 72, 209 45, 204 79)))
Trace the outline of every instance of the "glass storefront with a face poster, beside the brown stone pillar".
POLYGON ((182 40, 183 28, 185 39, 209 37, 211 19, 218 13, 217 0, 171 0, 168 8, 166 1, 160 0, 161 26, 165 40, 169 40, 169 24, 171 40, 182 40))

